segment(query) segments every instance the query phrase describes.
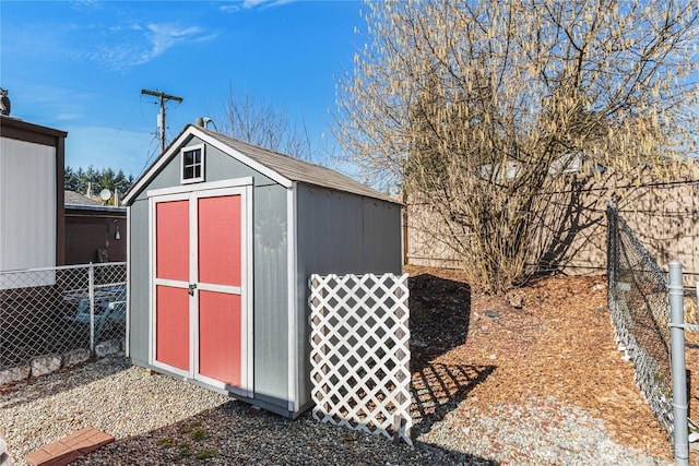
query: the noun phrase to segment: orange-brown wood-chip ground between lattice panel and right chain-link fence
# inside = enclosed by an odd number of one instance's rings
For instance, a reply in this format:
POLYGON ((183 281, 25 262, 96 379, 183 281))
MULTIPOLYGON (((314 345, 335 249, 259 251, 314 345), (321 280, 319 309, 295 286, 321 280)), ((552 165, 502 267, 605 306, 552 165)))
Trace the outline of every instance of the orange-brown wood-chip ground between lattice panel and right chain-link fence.
MULTIPOLYGON (((672 444, 614 342, 606 277, 543 278, 506 299, 473 291, 460 271, 408 266, 405 272, 413 382, 426 371, 436 380, 440 370, 452 374, 453 383, 441 378, 442 399, 435 409, 465 399, 459 409, 487 413, 498 403, 555 397, 602 419, 619 443, 672 462, 672 444), (464 374, 461 382, 457 372, 464 374)), ((691 386, 699 387, 699 340, 689 333, 687 339, 687 368, 697 367, 691 386)), ((688 397, 697 420, 697 392, 688 397)), ((699 454, 690 459, 699 465, 699 454)))

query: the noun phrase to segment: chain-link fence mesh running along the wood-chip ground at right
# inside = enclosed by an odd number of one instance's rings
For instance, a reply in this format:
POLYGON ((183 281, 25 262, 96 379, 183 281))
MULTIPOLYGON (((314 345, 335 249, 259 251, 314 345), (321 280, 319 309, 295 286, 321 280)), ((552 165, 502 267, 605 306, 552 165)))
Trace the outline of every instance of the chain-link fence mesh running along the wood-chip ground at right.
POLYGON ((616 340, 633 363, 636 383, 651 411, 672 438, 673 375, 665 274, 612 202, 607 222, 607 296, 616 340))

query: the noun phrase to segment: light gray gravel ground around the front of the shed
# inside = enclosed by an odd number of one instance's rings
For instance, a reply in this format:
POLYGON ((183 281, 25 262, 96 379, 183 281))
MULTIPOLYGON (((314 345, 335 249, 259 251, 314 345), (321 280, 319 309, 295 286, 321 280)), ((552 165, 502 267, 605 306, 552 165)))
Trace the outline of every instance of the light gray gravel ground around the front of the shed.
MULTIPOLYGON (((1 387, 0 387, 1 389, 1 387)), ((451 406, 414 426, 415 446, 294 421, 111 357, 0 390, 0 429, 15 464, 92 426, 117 442, 79 465, 667 465, 611 440, 600 419, 555 399, 487 410, 451 406)))

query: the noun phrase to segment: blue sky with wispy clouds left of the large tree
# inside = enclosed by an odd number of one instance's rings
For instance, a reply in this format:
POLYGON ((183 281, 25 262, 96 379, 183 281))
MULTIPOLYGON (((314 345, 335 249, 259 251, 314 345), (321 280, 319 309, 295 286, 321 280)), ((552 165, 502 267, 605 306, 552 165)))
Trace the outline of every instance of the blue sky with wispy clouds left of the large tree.
POLYGON ((68 131, 66 165, 138 176, 167 141, 246 94, 305 121, 332 148, 335 76, 363 46, 357 1, 0 2, 0 87, 12 117, 68 131))

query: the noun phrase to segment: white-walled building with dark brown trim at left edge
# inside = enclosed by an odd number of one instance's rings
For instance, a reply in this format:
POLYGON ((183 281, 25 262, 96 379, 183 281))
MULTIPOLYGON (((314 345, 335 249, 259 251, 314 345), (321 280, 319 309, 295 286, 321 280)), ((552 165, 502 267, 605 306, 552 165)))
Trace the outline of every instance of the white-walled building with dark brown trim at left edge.
POLYGON ((0 115, 0 271, 64 263, 67 135, 0 115))

